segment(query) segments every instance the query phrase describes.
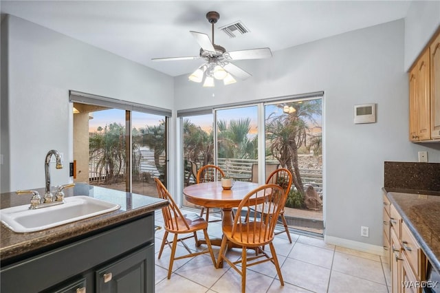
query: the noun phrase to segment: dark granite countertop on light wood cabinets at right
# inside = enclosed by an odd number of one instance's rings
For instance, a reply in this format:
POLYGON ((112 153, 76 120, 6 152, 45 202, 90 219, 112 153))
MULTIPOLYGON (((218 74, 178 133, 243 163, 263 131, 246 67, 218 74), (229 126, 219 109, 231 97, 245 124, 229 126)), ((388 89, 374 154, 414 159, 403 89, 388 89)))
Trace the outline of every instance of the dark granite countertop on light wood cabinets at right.
POLYGON ((432 267, 440 272, 440 193, 428 195, 408 190, 384 188, 432 267))

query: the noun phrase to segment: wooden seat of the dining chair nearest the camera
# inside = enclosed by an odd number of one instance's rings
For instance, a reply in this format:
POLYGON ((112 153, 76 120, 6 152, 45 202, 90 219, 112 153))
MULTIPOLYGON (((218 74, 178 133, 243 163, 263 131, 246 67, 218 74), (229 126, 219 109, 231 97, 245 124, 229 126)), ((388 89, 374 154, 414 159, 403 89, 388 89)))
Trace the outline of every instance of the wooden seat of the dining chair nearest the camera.
POLYGON ((263 246, 274 239, 274 235, 265 235, 266 226, 261 221, 250 221, 238 225, 235 231, 232 237, 232 226, 223 226, 223 235, 240 246, 263 246))

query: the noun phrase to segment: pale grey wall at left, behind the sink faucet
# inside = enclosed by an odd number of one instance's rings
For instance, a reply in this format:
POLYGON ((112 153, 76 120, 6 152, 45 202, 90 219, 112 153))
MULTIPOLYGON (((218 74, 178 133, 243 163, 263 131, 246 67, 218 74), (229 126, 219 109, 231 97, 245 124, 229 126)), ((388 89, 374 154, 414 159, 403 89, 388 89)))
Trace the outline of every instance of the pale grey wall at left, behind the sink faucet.
MULTIPOLYGON (((1 45, 8 47, 8 94, 1 96, 1 192, 43 187, 50 149, 64 153, 66 165, 72 162, 69 89, 173 109, 170 76, 17 17, 5 21, 8 38, 1 45)), ((68 182, 68 165, 50 168, 52 185, 68 182)))

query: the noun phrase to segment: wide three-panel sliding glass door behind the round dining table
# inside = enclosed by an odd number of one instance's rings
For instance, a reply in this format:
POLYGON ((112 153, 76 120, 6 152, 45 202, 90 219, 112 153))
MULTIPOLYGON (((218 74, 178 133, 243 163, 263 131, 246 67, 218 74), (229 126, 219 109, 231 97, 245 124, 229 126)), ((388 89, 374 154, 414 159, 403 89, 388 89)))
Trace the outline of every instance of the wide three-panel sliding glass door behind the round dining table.
POLYGON ((322 234, 322 98, 212 112, 183 118, 184 186, 194 184, 195 172, 205 164, 217 164, 235 180, 260 184, 275 169, 288 169, 294 177, 285 208, 289 226, 322 234))

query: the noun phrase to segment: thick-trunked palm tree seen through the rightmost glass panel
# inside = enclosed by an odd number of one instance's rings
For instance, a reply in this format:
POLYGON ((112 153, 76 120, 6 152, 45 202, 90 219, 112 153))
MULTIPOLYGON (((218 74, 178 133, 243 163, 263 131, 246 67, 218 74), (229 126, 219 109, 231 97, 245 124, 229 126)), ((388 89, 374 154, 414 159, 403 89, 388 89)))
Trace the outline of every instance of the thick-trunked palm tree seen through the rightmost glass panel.
POLYGON ((298 167, 298 149, 307 142, 308 123, 316 122, 321 115, 321 101, 309 100, 280 105, 294 109, 281 115, 272 115, 266 120, 266 137, 270 141, 270 153, 289 169, 293 175, 294 186, 305 194, 303 180, 298 167))

